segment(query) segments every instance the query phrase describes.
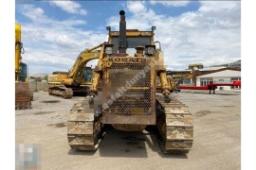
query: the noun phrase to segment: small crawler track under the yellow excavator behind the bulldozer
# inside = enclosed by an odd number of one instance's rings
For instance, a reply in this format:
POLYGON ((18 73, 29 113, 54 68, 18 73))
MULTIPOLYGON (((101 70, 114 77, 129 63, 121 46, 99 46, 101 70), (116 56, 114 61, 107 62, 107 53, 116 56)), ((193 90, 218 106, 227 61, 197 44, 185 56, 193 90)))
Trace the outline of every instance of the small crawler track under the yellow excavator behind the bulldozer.
POLYGON ((72 89, 71 88, 66 88, 64 86, 49 87, 48 88, 48 93, 50 95, 61 96, 61 97, 65 98, 65 99, 72 98, 72 96, 73 96, 72 89))

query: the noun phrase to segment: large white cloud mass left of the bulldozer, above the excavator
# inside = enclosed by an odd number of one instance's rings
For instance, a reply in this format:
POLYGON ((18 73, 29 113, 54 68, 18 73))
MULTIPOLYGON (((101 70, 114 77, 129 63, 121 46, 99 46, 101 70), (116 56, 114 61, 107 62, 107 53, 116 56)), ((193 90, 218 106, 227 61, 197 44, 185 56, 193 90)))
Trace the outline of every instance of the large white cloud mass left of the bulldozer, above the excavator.
POLYGON ((86 24, 82 20, 55 20, 46 16, 43 8, 32 5, 24 5, 17 11, 31 20, 30 23, 20 23, 25 48, 22 56, 30 74, 68 71, 84 48, 107 40, 107 35, 99 31, 78 28, 86 24))

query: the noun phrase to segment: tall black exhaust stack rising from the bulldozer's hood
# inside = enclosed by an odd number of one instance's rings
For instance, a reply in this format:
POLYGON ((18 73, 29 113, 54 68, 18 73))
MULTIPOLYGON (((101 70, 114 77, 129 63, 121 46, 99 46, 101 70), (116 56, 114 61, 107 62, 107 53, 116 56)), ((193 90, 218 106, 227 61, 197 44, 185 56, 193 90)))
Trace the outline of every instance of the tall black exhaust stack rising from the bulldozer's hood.
POLYGON ((126 21, 125 21, 125 12, 123 10, 119 11, 120 22, 119 22, 119 57, 126 56, 126 21))

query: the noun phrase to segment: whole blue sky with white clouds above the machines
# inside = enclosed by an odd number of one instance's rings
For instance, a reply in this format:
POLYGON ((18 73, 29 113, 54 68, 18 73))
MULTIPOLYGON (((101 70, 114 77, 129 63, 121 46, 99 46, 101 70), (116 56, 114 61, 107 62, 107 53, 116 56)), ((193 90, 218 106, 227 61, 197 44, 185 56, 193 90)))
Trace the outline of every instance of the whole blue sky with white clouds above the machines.
MULTIPOLYGON (((240 1, 33 1, 16 0, 23 61, 29 73, 68 71, 84 48, 107 41, 105 26, 151 30, 170 70, 241 59, 240 1)), ((96 62, 90 62, 94 65, 96 62)))

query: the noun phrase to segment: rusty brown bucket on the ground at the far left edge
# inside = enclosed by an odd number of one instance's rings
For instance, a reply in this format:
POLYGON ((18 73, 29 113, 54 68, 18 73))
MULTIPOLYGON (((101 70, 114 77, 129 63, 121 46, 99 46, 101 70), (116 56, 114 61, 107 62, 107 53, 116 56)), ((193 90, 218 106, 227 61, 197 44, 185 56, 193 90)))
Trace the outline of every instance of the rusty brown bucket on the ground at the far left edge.
POLYGON ((31 97, 26 82, 15 83, 15 110, 24 110, 31 108, 31 97))

